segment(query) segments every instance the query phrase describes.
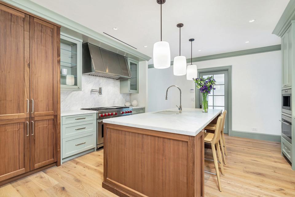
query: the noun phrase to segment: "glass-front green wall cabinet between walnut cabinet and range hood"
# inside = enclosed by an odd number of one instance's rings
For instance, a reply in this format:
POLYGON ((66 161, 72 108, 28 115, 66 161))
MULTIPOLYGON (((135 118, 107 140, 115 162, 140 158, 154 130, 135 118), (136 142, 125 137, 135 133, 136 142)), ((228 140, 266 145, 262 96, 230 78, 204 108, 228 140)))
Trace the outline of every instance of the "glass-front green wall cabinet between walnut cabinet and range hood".
POLYGON ((82 40, 61 33, 61 90, 81 91, 82 40))

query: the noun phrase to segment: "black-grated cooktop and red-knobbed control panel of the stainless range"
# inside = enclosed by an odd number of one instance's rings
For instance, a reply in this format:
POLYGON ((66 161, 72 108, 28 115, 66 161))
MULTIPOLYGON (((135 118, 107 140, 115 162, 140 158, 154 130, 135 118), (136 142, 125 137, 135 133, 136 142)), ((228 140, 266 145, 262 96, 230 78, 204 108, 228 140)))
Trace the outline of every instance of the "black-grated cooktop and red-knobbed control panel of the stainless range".
POLYGON ((96 119, 105 119, 118 116, 127 116, 132 114, 132 108, 130 107, 97 107, 97 108, 83 108, 85 110, 96 111, 96 119))

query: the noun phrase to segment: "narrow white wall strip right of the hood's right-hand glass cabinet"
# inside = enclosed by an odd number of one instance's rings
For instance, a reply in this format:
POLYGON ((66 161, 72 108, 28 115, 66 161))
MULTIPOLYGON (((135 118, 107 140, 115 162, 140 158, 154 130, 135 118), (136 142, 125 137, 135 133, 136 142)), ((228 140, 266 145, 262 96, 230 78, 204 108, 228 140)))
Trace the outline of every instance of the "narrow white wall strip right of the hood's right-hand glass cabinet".
POLYGON ((132 93, 132 100, 137 100, 138 106, 148 107, 148 61, 139 62, 139 93, 132 93))

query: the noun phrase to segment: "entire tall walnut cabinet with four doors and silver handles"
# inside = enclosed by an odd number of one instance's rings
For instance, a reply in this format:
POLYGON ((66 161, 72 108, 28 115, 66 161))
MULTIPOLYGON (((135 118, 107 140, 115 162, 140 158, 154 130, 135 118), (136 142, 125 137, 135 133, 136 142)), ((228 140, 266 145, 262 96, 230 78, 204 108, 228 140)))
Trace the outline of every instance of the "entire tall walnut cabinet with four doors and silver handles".
POLYGON ((0 2, 0 185, 60 164, 59 37, 0 2))

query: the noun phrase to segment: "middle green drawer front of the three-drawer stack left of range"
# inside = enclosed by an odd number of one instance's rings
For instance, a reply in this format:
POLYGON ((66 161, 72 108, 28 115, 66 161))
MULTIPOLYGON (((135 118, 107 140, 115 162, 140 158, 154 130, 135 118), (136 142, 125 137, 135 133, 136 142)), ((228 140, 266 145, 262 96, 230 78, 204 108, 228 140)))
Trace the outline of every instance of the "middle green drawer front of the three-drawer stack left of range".
POLYGON ((96 120, 62 125, 62 139, 84 133, 96 132, 96 120))

